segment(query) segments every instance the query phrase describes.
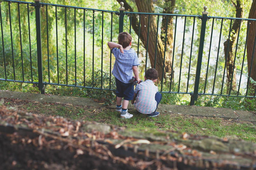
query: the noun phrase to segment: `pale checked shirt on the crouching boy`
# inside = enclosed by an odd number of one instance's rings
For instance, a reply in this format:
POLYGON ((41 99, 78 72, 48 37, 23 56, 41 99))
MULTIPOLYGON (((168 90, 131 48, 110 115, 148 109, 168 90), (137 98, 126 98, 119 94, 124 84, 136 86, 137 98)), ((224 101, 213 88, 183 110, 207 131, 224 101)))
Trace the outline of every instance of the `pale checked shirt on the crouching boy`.
POLYGON ((134 107, 140 113, 150 114, 156 110, 155 95, 158 92, 157 86, 155 86, 152 80, 146 80, 136 85, 134 93, 137 94, 134 107))

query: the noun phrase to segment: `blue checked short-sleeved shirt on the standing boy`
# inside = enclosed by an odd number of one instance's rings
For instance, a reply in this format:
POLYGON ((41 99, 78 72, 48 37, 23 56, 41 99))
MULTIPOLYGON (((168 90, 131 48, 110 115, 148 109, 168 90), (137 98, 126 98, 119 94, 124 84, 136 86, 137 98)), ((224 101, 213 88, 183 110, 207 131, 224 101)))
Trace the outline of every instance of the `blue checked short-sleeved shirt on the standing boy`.
POLYGON ((112 74, 121 82, 130 83, 133 76, 132 66, 140 65, 137 53, 132 48, 124 50, 124 54, 120 49, 113 48, 112 53, 116 58, 112 74))

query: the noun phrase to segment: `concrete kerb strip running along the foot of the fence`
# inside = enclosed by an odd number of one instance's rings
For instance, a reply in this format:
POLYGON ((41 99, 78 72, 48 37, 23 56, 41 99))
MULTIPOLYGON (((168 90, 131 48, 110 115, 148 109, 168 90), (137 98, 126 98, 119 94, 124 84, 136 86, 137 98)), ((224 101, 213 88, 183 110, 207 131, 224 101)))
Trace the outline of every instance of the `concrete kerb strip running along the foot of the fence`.
MULTIPOLYGON (((92 99, 83 98, 83 97, 13 92, 8 90, 0 90, 0 99, 1 98, 38 101, 42 103, 48 102, 48 103, 60 103, 60 104, 74 104, 74 105, 80 105, 80 106, 86 105, 86 106, 93 106, 93 107, 102 107, 102 104, 99 104, 92 99)), ((114 109, 116 105, 111 105, 108 107, 114 109)), ((130 110, 135 108, 132 106, 131 103, 129 103, 128 109, 130 110)), ((157 110, 160 113, 165 112, 168 114, 221 117, 225 119, 256 122, 255 113, 243 111, 243 110, 232 110, 230 108, 159 104, 157 110)))

